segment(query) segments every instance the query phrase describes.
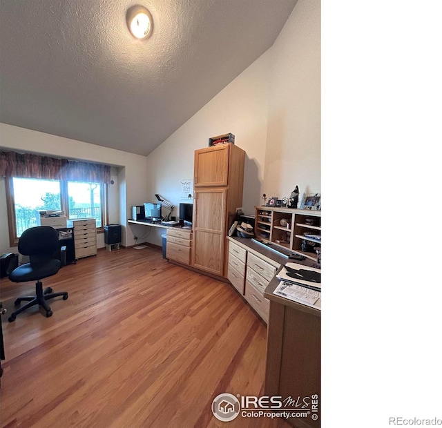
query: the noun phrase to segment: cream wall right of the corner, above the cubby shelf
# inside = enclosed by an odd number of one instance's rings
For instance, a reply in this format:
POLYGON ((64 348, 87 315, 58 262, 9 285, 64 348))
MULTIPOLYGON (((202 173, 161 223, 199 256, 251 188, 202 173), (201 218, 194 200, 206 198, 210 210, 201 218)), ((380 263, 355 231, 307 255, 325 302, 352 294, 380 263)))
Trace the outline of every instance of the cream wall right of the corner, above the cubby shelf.
POLYGON ((271 48, 265 191, 320 192, 320 1, 300 0, 271 48))

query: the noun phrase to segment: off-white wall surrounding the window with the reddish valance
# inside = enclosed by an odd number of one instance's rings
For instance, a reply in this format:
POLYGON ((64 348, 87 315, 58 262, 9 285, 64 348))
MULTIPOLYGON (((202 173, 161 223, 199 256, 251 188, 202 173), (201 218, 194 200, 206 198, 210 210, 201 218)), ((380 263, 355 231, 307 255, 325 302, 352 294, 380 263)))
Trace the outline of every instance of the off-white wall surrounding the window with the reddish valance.
MULTIPOLYGON (((111 174, 115 184, 108 186, 108 221, 110 224, 122 224, 123 245, 133 244, 133 233, 130 228, 126 228, 126 224, 130 217, 130 207, 139 204, 140 200, 146 197, 146 182, 148 182, 146 157, 1 123, 0 136, 2 150, 22 150, 113 166, 111 174)), ((17 251, 17 248, 11 248, 9 244, 3 177, 0 178, 0 215, 0 251, 1 253, 17 251)), ((99 248, 104 246, 103 234, 98 235, 97 244, 99 248)))

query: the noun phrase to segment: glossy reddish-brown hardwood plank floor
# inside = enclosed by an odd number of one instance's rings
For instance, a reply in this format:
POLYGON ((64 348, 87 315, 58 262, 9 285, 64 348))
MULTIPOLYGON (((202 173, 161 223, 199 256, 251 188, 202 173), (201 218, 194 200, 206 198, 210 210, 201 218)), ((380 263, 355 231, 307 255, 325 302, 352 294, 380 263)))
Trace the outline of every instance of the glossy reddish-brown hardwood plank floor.
POLYGON ((68 300, 8 322, 35 286, 1 280, 2 427, 289 426, 212 415, 220 393, 263 394, 266 327, 230 284, 156 248, 99 251, 43 283, 68 300))

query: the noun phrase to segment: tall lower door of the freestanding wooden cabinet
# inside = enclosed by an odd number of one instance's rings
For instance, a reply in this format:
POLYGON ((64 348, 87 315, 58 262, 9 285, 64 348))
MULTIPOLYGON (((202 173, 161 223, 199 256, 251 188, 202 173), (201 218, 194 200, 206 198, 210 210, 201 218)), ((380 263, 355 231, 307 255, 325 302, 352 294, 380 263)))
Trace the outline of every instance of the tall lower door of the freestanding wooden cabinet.
POLYGON ((195 188, 193 198, 193 267, 222 276, 227 188, 195 188))

